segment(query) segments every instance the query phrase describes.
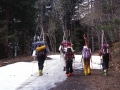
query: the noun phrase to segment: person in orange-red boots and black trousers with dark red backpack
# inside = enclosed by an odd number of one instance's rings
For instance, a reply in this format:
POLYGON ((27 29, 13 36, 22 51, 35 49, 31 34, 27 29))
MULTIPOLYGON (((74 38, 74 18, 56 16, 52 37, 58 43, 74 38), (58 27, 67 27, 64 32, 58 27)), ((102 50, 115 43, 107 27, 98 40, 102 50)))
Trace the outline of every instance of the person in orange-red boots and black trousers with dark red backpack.
POLYGON ((65 60, 66 60, 66 75, 67 77, 71 76, 73 72, 73 59, 75 58, 74 53, 72 52, 71 48, 67 48, 67 52, 65 53, 65 60))

